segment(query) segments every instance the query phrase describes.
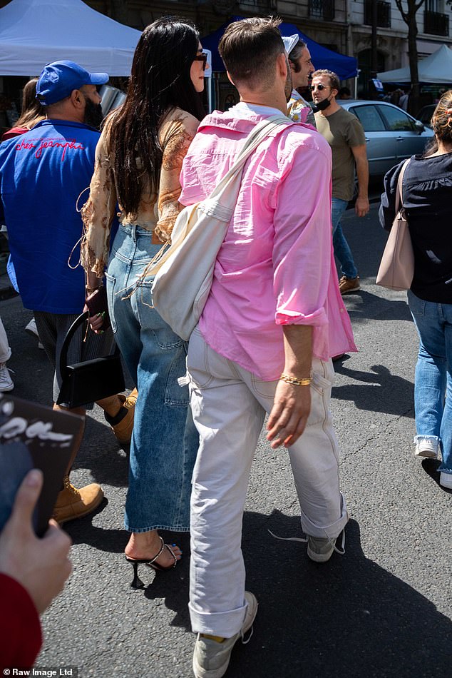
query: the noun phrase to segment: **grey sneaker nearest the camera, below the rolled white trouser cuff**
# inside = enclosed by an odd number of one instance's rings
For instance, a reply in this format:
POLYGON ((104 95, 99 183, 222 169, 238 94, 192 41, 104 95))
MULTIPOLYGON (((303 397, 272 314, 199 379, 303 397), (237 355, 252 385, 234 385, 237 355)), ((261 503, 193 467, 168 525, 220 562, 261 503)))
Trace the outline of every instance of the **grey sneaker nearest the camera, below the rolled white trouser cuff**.
POLYGON ((245 621, 238 633, 232 638, 226 638, 222 643, 204 638, 197 634, 195 642, 195 652, 193 652, 193 673, 196 678, 221 678, 225 675, 229 666, 232 648, 239 638, 243 641, 244 634, 252 629, 252 622, 255 621, 257 613, 257 599, 249 591, 245 591, 245 600, 248 603, 245 621))

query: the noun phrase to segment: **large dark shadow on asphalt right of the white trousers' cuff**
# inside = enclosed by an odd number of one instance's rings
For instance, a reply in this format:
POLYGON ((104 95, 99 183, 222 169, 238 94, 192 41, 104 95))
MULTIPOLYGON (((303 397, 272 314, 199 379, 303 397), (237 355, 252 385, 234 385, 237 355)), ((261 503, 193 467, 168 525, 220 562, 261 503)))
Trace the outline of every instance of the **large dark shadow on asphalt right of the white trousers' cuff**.
POLYGON ((299 519, 245 513, 247 587, 260 602, 250 644, 237 643, 228 676, 267 678, 446 678, 452 622, 421 594, 368 560, 359 525, 346 528, 346 555, 311 562, 299 519), (281 666, 284 667, 282 673, 281 666))

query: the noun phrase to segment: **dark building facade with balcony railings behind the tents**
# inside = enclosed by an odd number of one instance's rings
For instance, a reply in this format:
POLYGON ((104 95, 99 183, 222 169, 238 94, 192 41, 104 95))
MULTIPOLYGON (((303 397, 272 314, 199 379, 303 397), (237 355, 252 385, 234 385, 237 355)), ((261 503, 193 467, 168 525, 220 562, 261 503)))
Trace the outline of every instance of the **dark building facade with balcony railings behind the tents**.
MULTIPOLYGON (((58 4, 58 0, 55 1, 58 4)), ((408 28, 395 0, 85 1, 93 9, 138 30, 165 14, 184 16, 195 21, 201 36, 215 31, 232 16, 280 16, 319 44, 355 56, 360 69, 358 93, 361 95, 367 93, 371 76, 372 5, 376 2, 377 70, 389 71, 409 63, 408 28)), ((6 4, 6 0, 0 0, 0 7, 6 4)), ((416 15, 419 59, 432 54, 441 44, 452 46, 451 14, 452 8, 446 0, 425 0, 416 15)))

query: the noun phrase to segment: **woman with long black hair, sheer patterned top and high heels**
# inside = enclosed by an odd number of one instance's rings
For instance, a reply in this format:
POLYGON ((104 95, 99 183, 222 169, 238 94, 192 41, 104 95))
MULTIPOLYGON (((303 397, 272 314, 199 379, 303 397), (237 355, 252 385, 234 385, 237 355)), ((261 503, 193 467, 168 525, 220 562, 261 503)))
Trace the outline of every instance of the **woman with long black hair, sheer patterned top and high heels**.
MULTIPOLYGON (((106 120, 96 151, 90 198, 83 207, 87 296, 106 271, 115 338, 138 388, 130 444, 125 555, 155 570, 176 565, 178 547, 158 529, 189 530, 190 482, 198 435, 188 407, 186 343, 152 307, 145 269, 169 240, 182 209, 179 173, 200 118, 205 54, 187 21, 165 17, 138 41, 127 98, 106 120), (108 263, 118 202, 120 227, 108 263)), ((181 290, 183 293, 183 290, 181 290)), ((101 330, 102 318, 91 318, 101 330)))

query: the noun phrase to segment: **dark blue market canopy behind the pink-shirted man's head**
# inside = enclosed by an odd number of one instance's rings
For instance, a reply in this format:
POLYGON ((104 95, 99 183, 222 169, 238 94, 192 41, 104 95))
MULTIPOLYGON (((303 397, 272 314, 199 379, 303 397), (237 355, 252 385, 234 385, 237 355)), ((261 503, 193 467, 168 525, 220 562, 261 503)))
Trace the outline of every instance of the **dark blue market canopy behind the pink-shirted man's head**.
MULTIPOLYGON (((212 51, 212 71, 225 71, 225 66, 218 54, 218 43, 225 32, 226 26, 232 24, 232 21, 240 21, 243 16, 232 16, 230 21, 222 24, 217 31, 214 31, 205 38, 201 39, 202 46, 212 51)), ((295 24, 281 24, 279 26, 282 36, 291 36, 297 33, 302 40, 307 44, 312 56, 312 63, 316 69, 329 69, 334 71, 339 76, 339 79, 346 80, 347 78, 356 78, 358 75, 357 61, 354 56, 344 56, 337 52, 322 47, 318 42, 311 40, 304 33, 297 29, 295 24)))

